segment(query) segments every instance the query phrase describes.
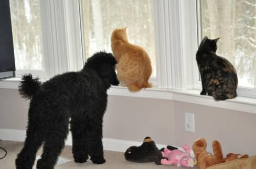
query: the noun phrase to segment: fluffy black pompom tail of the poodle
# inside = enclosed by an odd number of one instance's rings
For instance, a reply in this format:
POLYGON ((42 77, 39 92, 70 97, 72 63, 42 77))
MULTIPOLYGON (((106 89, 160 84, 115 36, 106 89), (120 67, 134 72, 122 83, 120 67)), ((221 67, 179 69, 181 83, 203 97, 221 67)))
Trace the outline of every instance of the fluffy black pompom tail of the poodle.
POLYGON ((40 87, 41 82, 38 77, 33 79, 31 74, 24 75, 20 81, 19 94, 22 95, 22 98, 31 99, 40 87))

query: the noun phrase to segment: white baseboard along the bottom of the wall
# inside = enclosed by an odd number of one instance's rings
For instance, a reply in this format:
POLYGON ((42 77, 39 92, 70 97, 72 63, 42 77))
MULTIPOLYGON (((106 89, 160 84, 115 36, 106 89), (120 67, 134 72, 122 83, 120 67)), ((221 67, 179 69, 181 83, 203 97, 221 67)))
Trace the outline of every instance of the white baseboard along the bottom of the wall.
MULTIPOLYGON (((1 140, 9 140, 9 141, 24 141, 26 138, 25 130, 15 130, 15 129, 0 129, 0 139, 1 140)), ((144 139, 144 138, 142 138, 144 139)), ((125 152, 131 146, 141 146, 142 142, 138 141, 129 141, 129 140, 120 140, 120 139, 111 139, 111 138, 103 138, 103 147, 104 150, 109 151, 118 151, 125 152)), ((66 140, 66 145, 72 146, 72 137, 69 133, 68 138, 66 140)), ((156 144, 158 149, 166 147, 164 144, 156 144)), ((179 150, 183 150, 183 148, 177 147, 179 150)), ((194 157, 193 150, 190 150, 191 156, 194 157)))

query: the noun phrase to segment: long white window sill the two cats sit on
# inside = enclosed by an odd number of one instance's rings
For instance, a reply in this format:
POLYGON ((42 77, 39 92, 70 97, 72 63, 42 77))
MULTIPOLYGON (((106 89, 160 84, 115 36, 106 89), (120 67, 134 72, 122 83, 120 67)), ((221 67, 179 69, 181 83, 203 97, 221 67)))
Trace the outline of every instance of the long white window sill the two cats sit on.
MULTIPOLYGON (((20 78, 11 78, 0 81, 0 89, 17 89, 20 78)), ((42 79, 42 82, 46 79, 42 79)), ((237 96, 225 101, 215 101, 211 96, 200 95, 200 90, 174 90, 153 88, 142 89, 139 92, 130 92, 126 87, 112 86, 109 95, 130 96, 136 98, 167 99, 212 107, 227 108, 230 110, 256 113, 256 98, 237 96)))

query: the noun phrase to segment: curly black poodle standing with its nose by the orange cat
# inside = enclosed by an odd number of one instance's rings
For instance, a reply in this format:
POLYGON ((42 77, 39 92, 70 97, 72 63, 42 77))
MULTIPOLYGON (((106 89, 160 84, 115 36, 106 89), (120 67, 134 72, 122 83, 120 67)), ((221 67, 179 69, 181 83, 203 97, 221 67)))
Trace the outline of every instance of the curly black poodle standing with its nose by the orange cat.
POLYGON ((54 168, 65 139, 72 132, 75 162, 91 157, 95 164, 105 163, 102 146, 102 123, 111 85, 118 85, 115 58, 111 53, 95 53, 81 71, 57 75, 41 84, 31 75, 23 76, 19 92, 29 98, 27 137, 17 155, 16 168, 30 169, 38 148, 44 142, 39 169, 54 168), (71 120, 70 120, 71 118, 71 120))

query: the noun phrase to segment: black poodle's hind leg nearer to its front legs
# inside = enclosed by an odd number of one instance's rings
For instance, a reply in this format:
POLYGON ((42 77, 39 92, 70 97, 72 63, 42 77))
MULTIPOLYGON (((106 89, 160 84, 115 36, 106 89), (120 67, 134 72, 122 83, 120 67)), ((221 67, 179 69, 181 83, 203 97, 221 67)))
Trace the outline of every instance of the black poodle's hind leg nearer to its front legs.
POLYGON ((68 136, 69 119, 66 117, 52 117, 52 121, 45 126, 46 139, 41 159, 37 161, 37 169, 53 169, 58 156, 65 146, 68 136))

